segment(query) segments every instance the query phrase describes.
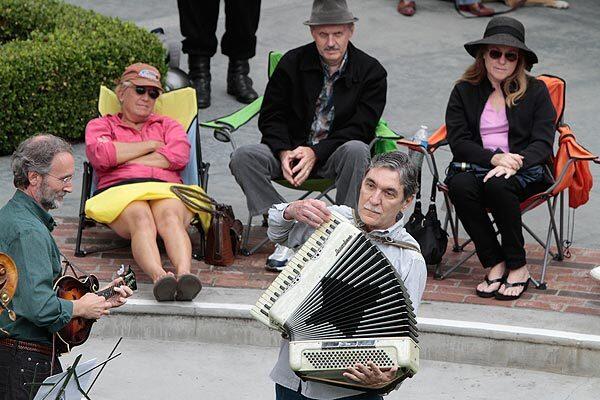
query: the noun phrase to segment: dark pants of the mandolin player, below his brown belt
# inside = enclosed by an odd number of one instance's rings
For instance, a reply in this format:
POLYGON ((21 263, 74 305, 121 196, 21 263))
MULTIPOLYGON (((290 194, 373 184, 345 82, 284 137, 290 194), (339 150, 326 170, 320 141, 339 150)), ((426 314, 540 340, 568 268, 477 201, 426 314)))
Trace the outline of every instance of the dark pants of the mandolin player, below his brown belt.
MULTIPOLYGON (((31 383, 42 383, 50 376, 51 359, 52 356, 34 351, 0 345, 0 400, 33 399, 40 386, 31 383)), ((62 368, 55 358, 52 373, 59 372, 62 368)))

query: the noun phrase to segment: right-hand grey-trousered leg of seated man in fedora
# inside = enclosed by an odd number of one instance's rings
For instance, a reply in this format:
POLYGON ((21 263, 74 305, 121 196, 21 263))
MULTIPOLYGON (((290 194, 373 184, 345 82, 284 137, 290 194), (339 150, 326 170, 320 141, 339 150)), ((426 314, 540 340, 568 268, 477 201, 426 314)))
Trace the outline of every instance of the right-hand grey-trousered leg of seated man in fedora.
POLYGON ((369 145, 359 140, 351 140, 341 145, 317 169, 316 174, 323 178, 335 179, 335 202, 355 208, 358 204, 360 183, 369 167, 371 153, 369 145))

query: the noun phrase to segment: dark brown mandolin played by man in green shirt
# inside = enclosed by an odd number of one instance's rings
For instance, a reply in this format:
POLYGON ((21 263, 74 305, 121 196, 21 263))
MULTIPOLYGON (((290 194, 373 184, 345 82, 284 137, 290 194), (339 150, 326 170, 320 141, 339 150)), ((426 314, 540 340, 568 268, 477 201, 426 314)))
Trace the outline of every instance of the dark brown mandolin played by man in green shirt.
MULTIPOLYGON (((121 268, 117 271, 117 276, 123 278, 121 285, 126 285, 131 290, 137 289, 135 273, 131 269, 131 266, 128 266, 127 270, 125 270, 125 266, 121 265, 121 268)), ((65 275, 56 281, 54 290, 59 298, 65 300, 78 300, 86 293, 95 293, 98 296, 108 299, 116 295, 114 287, 121 285, 110 285, 106 289, 98 290, 100 285, 98 278, 94 275, 90 274, 80 278, 65 275)), ((86 319, 83 317, 71 319, 67 325, 56 333, 59 339, 57 341, 58 352, 68 353, 74 346, 83 344, 90 336, 94 322, 96 322, 95 319, 86 319)))

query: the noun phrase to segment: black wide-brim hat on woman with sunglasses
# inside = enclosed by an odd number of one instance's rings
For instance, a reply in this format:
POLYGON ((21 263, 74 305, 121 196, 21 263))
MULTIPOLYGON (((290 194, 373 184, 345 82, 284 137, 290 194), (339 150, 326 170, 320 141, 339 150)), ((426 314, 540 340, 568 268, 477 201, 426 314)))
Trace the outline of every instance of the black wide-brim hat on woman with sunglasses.
POLYGON ((525 27, 522 23, 511 17, 494 17, 490 20, 483 39, 465 43, 465 50, 477 57, 477 51, 482 45, 503 45, 521 49, 525 54, 528 66, 538 62, 538 58, 529 47, 525 45, 525 27))

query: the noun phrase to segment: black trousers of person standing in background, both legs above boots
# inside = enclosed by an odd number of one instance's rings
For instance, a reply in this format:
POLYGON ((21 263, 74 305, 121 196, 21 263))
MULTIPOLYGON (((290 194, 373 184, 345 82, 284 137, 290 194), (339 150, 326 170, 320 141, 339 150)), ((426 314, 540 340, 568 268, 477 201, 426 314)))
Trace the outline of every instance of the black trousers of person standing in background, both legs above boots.
MULTIPOLYGON (((183 52, 212 57, 217 52, 219 0, 177 0, 183 52)), ((256 54, 260 0, 225 0, 225 34, 221 51, 234 60, 256 54)))

